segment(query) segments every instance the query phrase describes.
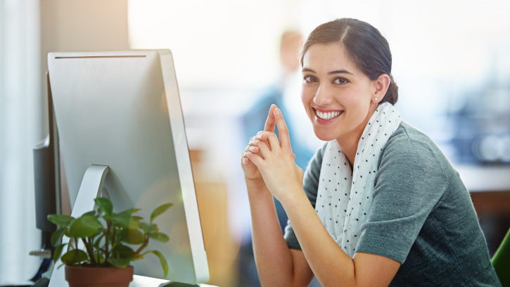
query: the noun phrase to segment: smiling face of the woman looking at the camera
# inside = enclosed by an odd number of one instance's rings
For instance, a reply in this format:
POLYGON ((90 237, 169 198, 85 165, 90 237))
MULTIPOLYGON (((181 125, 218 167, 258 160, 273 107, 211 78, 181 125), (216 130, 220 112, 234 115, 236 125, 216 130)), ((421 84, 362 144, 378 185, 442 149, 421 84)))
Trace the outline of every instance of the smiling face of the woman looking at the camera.
POLYGON ((341 44, 310 46, 302 77, 301 99, 317 137, 339 144, 359 140, 377 108, 376 81, 352 63, 341 44))

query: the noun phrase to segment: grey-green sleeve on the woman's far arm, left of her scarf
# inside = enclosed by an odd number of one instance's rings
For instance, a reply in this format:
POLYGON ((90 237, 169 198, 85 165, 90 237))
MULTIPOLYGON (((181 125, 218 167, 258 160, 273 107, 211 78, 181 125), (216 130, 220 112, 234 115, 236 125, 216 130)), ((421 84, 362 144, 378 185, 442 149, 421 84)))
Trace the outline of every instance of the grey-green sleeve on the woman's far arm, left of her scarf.
MULTIPOLYGON (((303 176, 303 190, 305 191, 308 200, 310 200, 310 203, 314 208, 315 201, 317 200, 317 188, 319 186, 319 175, 321 173, 322 158, 324 157, 324 150, 326 149, 326 145, 327 143, 316 151, 308 163, 307 169, 305 170, 305 175, 303 176)), ((287 222, 283 238, 285 238, 288 248, 301 249, 298 238, 295 236, 290 221, 287 222)))

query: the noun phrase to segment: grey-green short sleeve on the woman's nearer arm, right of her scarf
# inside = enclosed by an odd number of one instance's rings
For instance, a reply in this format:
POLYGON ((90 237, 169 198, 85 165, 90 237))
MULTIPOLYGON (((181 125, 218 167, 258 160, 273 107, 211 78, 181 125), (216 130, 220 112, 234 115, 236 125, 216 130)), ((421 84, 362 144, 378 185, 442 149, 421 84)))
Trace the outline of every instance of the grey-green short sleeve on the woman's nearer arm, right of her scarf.
POLYGON ((447 189, 438 160, 423 141, 408 137, 388 141, 356 252, 405 261, 423 223, 447 189))

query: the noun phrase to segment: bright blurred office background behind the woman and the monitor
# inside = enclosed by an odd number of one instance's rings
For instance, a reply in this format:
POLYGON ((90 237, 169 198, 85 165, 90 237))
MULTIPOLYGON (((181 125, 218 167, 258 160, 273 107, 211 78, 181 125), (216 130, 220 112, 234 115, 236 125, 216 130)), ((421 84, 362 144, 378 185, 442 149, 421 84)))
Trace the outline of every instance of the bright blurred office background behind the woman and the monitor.
POLYGON ((32 148, 48 133, 46 54, 162 48, 174 55, 210 283, 258 286, 243 123, 276 87, 307 159, 321 142, 302 110, 299 74, 281 64, 281 36, 306 37, 342 17, 390 42, 402 117, 457 167, 493 253, 510 226, 508 10, 502 0, 0 0, 0 285, 27 281, 41 261, 28 253, 41 245, 32 148))

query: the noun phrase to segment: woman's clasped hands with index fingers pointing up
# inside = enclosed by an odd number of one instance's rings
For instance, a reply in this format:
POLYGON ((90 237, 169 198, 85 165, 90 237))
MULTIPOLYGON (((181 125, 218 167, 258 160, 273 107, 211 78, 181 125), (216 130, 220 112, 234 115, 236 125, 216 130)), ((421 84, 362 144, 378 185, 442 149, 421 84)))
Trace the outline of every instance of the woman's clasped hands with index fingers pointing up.
POLYGON ((282 201, 302 191, 303 171, 295 164, 288 128, 279 108, 269 109, 264 130, 253 136, 241 155, 246 181, 264 181, 273 196, 282 201), (280 139, 274 134, 278 127, 280 139))

